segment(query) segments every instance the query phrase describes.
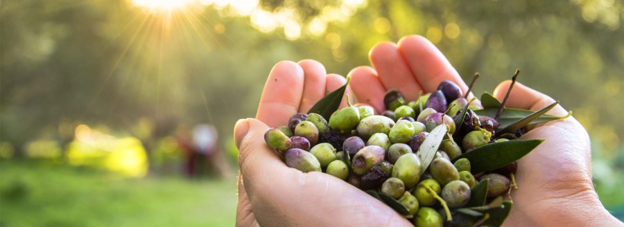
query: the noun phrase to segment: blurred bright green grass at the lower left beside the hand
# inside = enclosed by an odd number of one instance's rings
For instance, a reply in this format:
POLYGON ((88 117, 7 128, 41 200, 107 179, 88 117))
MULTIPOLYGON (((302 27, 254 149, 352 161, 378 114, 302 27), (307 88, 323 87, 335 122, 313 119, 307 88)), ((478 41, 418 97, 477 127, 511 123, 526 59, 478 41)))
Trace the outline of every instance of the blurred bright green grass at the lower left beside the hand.
POLYGON ((236 179, 119 179, 32 162, 0 163, 0 226, 234 226, 236 179))

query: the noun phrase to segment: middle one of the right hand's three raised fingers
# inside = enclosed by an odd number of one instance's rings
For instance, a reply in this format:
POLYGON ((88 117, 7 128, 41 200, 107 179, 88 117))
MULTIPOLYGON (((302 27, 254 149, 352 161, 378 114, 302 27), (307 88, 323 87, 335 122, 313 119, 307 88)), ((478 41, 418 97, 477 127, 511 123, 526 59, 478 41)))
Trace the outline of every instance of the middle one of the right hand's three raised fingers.
POLYGON ((418 98, 421 87, 399 53, 397 44, 391 42, 377 44, 369 56, 385 89, 398 89, 408 101, 418 98))

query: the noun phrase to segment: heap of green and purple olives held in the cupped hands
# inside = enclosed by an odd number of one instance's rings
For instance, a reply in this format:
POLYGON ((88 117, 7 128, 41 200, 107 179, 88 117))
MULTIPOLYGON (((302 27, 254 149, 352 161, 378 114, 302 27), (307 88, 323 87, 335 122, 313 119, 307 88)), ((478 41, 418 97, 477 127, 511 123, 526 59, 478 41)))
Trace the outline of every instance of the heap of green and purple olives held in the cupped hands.
POLYGON ((416 226, 478 224, 477 218, 460 212, 453 212, 453 221, 448 221, 449 208, 467 206, 471 189, 485 179, 489 179, 487 198, 505 196, 513 188, 516 162, 479 173, 471 172, 467 158, 451 162, 477 147, 522 133, 494 139, 499 127, 496 119, 477 116, 474 110, 480 106, 468 102, 457 84, 445 80, 437 91, 408 103, 399 91, 390 90, 384 103, 381 115, 375 115, 372 107, 350 104, 329 120, 320 114, 295 114, 287 126, 269 129, 264 138, 288 167, 325 172, 361 190, 391 197, 406 208, 404 216, 416 226), (456 125, 453 117, 462 109, 464 120, 456 125), (447 134, 424 169, 420 147, 443 124, 447 134))

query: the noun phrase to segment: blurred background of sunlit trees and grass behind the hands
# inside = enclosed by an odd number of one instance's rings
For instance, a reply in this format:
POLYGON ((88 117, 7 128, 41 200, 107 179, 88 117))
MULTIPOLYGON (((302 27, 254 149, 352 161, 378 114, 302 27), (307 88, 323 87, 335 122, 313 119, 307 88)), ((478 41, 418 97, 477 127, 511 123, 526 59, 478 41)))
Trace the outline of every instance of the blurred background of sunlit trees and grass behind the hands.
MULTIPOLYGON (((280 60, 329 73, 423 35, 474 91, 519 81, 592 140, 624 219, 624 1, 2 0, 0 226, 232 226, 234 122, 280 60), (180 130, 215 125, 226 171, 184 177, 180 130)), ((520 185, 521 186, 521 185, 520 185)))

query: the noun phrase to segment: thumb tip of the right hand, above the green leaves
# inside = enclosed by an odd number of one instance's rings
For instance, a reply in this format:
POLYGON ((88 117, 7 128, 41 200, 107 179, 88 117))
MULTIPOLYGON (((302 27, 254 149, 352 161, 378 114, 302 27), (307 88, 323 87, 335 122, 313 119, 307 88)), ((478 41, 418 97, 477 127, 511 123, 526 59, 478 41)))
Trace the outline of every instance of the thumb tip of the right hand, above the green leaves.
MULTIPOLYGON (((505 94, 507 94, 507 91, 509 90, 510 84, 511 80, 501 82, 501 84, 494 89, 494 97, 502 101, 505 98, 505 94)), ((509 98, 507 99, 507 102, 505 103, 505 107, 537 111, 553 104, 553 102, 555 102, 555 100, 550 96, 546 96, 539 91, 535 91, 526 87, 524 84, 516 82, 512 88, 509 98)), ((568 114, 568 111, 561 107, 561 105, 557 105, 548 111, 547 114, 564 116, 568 114)))

